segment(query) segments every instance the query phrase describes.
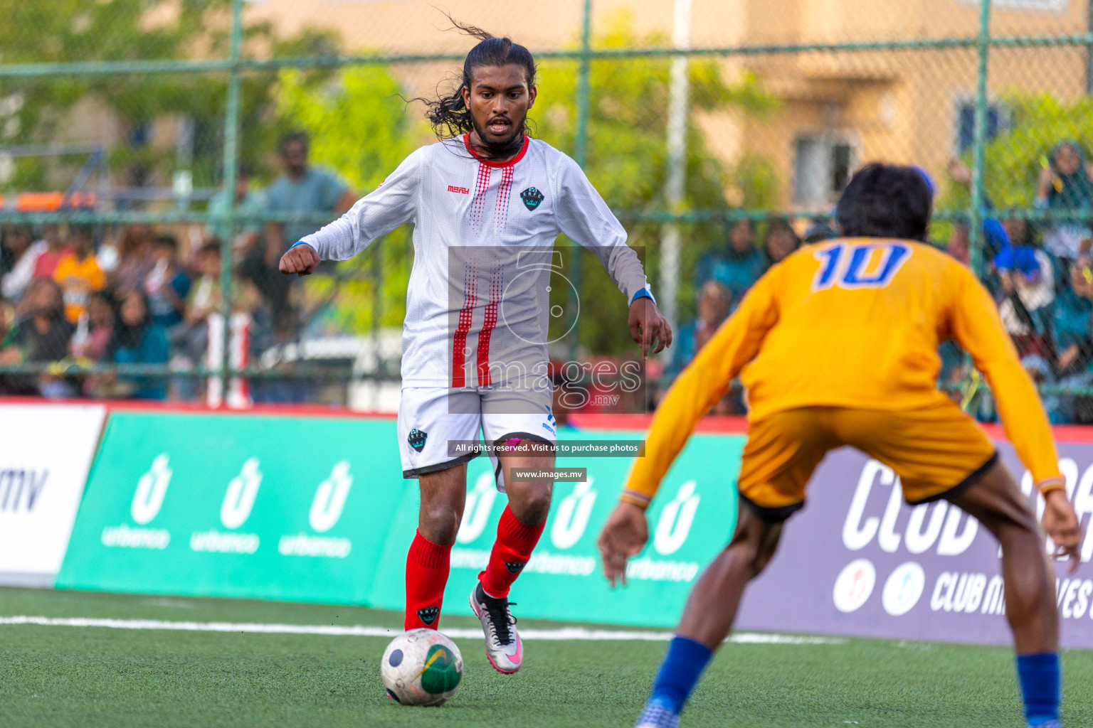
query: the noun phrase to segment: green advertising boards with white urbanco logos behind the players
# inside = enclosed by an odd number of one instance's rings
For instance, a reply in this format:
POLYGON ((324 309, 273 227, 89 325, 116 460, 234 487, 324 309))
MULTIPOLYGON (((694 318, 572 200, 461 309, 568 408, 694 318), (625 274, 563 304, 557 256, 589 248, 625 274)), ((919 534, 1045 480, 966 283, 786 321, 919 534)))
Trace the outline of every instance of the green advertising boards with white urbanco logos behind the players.
MULTIPOLYGON (((639 438, 577 432, 562 439, 639 438)), ((631 461, 566 457, 538 548, 514 586, 522 617, 669 626, 736 522, 743 438, 692 438, 649 510, 649 546, 612 592, 596 538, 631 461)), ((471 461, 445 612, 470 614, 505 496, 471 461)), ((59 588, 227 596, 401 610, 418 489, 402 479, 395 421, 178 414, 110 418, 59 588)))

